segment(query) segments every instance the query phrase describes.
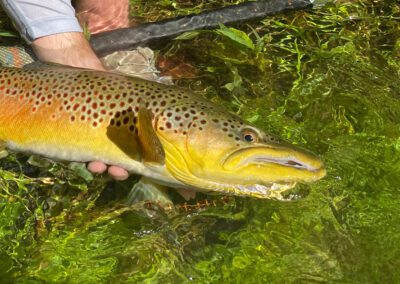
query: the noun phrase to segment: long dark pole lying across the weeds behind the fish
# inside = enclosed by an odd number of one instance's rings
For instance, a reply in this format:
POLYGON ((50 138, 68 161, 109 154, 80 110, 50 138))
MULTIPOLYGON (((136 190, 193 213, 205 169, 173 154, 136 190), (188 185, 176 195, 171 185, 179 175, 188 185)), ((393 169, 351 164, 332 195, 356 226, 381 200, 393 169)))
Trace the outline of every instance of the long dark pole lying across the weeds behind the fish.
POLYGON ((99 33, 91 37, 90 43, 98 56, 104 56, 118 50, 127 50, 138 46, 151 46, 153 43, 178 36, 187 31, 212 29, 221 23, 228 25, 290 10, 310 8, 312 7, 312 2, 312 0, 246 2, 200 14, 99 33))

